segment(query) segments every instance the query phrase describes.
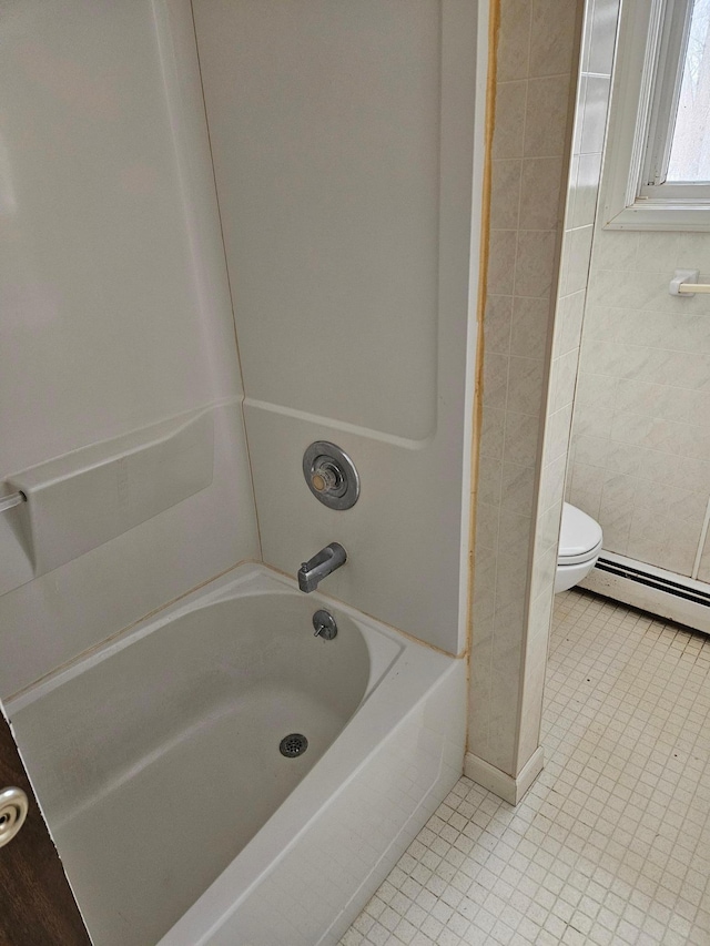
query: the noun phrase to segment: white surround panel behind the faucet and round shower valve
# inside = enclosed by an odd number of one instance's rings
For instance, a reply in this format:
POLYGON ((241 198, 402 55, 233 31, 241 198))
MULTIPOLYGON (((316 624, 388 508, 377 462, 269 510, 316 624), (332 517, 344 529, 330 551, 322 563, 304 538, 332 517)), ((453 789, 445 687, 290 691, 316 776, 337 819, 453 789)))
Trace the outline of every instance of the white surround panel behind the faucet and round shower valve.
POLYGON ((194 9, 264 559, 337 540, 325 593, 463 651, 476 4, 194 9), (361 476, 344 512, 303 478, 322 439, 361 476))

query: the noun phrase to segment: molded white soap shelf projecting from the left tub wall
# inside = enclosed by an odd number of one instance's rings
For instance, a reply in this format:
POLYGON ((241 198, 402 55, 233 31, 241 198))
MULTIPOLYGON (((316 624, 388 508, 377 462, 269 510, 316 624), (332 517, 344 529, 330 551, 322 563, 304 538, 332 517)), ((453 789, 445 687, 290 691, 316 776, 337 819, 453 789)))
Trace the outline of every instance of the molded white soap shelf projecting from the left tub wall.
POLYGON ((214 420, 205 409, 8 476, 0 496, 8 505, 0 515, 0 593, 205 489, 213 471, 214 420), (13 542, 17 567, 7 567, 13 542))

